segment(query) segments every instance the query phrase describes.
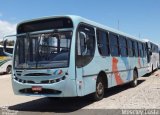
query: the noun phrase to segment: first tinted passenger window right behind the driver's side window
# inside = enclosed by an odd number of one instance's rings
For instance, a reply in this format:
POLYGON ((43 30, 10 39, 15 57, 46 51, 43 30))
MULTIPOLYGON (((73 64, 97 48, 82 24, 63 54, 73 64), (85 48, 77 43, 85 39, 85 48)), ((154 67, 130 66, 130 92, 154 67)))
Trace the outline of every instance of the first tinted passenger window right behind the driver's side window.
POLYGON ((109 55, 108 33, 101 30, 97 30, 97 44, 100 55, 108 56, 109 55))

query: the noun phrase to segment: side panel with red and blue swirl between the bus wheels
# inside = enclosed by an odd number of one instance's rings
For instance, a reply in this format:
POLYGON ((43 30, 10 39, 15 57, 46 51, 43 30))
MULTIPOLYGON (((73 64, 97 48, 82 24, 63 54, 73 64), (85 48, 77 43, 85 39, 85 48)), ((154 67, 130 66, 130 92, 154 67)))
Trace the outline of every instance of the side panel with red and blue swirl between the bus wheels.
POLYGON ((110 61, 112 62, 110 69, 112 83, 109 87, 122 85, 133 80, 133 71, 131 69, 130 58, 112 57, 110 61))

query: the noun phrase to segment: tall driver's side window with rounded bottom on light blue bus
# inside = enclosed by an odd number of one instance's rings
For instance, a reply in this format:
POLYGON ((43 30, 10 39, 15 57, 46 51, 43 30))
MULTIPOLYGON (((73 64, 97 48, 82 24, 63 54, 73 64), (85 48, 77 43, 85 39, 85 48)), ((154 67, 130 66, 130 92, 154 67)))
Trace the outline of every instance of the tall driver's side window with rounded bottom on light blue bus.
POLYGON ((95 53, 94 28, 80 25, 76 42, 76 65, 84 67, 93 59, 95 53))

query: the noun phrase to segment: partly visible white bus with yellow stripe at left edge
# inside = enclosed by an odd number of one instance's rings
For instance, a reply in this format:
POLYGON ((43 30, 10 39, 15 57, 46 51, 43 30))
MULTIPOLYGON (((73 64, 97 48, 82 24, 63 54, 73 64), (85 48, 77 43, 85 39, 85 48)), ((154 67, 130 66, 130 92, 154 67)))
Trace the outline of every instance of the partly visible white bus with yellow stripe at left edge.
MULTIPOLYGON (((13 51, 13 47, 8 48, 9 52, 13 51)), ((3 46, 0 45, 0 73, 11 73, 12 60, 3 52, 3 46)))

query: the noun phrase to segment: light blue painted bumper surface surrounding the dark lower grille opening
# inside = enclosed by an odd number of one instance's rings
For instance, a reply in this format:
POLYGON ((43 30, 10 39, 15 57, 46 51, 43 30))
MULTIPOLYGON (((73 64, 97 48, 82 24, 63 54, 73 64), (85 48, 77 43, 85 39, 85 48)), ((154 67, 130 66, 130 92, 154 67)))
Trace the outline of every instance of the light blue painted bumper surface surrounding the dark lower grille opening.
MULTIPOLYGON (((14 77, 14 76, 13 76, 14 77)), ((13 79, 12 77, 12 86, 14 94, 16 95, 26 95, 26 96, 47 96, 47 97, 75 97, 77 96, 75 80, 66 78, 63 81, 54 83, 54 84, 28 84, 20 83, 13 79), (60 94, 35 94, 35 93, 20 93, 21 89, 31 89, 33 86, 41 86, 45 89, 54 89, 62 91, 60 94)))

